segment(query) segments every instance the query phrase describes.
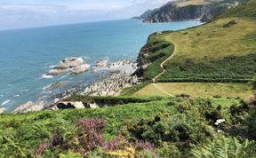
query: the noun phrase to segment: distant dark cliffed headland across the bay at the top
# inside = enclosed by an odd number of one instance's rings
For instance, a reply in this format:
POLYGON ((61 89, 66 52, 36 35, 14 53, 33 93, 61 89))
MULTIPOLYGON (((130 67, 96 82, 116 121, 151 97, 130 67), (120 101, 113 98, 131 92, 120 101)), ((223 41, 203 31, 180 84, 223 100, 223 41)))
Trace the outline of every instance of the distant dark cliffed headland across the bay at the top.
POLYGON ((180 0, 164 4, 160 8, 148 10, 132 19, 144 22, 171 22, 181 20, 213 20, 215 17, 242 1, 236 0, 180 0))

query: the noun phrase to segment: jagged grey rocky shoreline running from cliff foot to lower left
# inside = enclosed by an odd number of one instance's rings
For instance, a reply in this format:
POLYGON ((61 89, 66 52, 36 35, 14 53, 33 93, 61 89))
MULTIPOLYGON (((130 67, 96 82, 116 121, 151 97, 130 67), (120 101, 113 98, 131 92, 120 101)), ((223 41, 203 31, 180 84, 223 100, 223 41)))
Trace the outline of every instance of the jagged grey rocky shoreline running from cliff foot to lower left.
MULTIPOLYGON (((120 59, 114 62, 110 62, 108 58, 100 59, 91 67, 91 70, 92 73, 100 72, 101 74, 97 78, 93 78, 91 84, 76 83, 76 86, 65 89, 60 93, 51 94, 48 98, 46 97, 46 99, 40 98, 35 102, 29 100, 8 113, 28 113, 42 111, 49 109, 49 107, 56 107, 57 104, 64 102, 65 99, 68 99, 74 94, 87 96, 117 96, 124 88, 139 83, 138 77, 132 75, 138 69, 137 64, 135 59, 134 61, 132 59, 120 59), (48 103, 48 99, 52 100, 52 102, 48 103)), ((67 83, 63 81, 51 83, 44 87, 43 92, 47 93, 47 91, 58 90, 59 88, 63 88, 66 84, 67 83)), ((4 108, 1 108, 0 114, 3 114, 4 110, 4 108)))

